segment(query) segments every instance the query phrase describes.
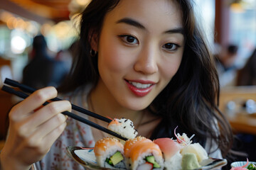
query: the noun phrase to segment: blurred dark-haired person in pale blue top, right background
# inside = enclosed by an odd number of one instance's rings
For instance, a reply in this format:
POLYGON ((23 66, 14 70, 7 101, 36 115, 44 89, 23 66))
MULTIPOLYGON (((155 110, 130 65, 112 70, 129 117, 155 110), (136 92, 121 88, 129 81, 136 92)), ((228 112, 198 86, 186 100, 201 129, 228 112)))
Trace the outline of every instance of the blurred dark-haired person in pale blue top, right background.
POLYGON ((237 68, 235 66, 237 55, 237 45, 228 45, 226 50, 222 54, 218 55, 216 67, 220 79, 220 87, 234 84, 237 72, 237 68))

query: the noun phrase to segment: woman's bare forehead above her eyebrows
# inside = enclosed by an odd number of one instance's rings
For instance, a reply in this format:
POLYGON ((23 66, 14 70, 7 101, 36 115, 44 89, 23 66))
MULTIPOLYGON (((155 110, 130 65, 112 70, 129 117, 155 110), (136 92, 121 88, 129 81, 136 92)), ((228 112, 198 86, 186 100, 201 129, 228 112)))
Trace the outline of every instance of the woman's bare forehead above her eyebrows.
POLYGON ((181 8, 174 0, 120 0, 105 20, 134 18, 145 27, 182 27, 181 8))

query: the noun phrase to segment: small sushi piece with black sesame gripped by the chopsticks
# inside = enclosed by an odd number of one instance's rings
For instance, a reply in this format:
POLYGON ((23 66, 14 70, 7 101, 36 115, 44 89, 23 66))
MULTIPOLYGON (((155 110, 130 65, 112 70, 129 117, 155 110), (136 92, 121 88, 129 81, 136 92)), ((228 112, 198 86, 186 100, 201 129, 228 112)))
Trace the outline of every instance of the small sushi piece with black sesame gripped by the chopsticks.
POLYGON ((134 129, 132 120, 126 118, 114 118, 114 120, 107 125, 107 128, 127 139, 133 139, 138 135, 137 130, 134 129))

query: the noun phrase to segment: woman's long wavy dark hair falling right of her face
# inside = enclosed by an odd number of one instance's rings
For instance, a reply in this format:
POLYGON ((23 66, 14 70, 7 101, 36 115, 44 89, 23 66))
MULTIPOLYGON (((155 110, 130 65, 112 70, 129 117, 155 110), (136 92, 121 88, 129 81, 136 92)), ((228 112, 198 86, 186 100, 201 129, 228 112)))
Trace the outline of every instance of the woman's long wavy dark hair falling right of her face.
POLYGON ((164 117, 153 135, 174 136, 178 125, 181 132, 195 134, 193 140, 202 145, 207 137, 215 141, 225 156, 233 145, 233 133, 218 109, 220 86, 214 57, 196 24, 191 1, 177 3, 183 11, 186 45, 178 72, 152 103, 154 110, 164 117))

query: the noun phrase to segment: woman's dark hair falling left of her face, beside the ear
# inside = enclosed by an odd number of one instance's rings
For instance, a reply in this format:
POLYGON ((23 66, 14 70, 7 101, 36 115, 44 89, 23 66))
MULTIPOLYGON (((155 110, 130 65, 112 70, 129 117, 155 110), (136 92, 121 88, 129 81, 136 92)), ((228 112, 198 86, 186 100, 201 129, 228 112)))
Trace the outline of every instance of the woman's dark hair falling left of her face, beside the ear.
POLYGON ((100 35, 106 13, 117 6, 118 2, 119 0, 92 0, 80 14, 80 38, 75 47, 77 53, 73 56, 70 73, 58 88, 59 91, 68 92, 83 84, 97 84, 100 75, 97 69, 97 56, 90 55, 90 35, 100 35))

